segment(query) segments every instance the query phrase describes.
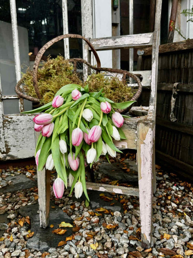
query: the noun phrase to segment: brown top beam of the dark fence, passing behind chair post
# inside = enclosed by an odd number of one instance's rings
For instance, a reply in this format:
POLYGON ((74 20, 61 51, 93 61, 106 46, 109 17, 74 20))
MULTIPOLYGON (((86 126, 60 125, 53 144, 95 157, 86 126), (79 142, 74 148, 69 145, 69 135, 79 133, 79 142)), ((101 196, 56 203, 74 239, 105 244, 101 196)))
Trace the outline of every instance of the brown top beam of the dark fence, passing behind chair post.
MULTIPOLYGON (((187 39, 184 41, 167 43, 159 46, 159 53, 187 50, 193 48, 193 39, 187 39)), ((141 48, 140 48, 141 49, 141 48)), ((152 47, 146 47, 144 50, 144 56, 151 55, 152 47)))

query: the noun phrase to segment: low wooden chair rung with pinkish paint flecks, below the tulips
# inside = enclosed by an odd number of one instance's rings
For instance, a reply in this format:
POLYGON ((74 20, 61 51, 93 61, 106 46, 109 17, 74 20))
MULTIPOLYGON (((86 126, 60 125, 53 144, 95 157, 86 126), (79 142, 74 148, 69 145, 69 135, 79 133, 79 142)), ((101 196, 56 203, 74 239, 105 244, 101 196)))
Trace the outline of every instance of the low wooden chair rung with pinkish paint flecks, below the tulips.
POLYGON ((91 183, 91 182, 87 182, 86 186, 88 190, 139 196, 138 188, 124 187, 119 185, 105 185, 105 184, 98 184, 98 183, 91 183))

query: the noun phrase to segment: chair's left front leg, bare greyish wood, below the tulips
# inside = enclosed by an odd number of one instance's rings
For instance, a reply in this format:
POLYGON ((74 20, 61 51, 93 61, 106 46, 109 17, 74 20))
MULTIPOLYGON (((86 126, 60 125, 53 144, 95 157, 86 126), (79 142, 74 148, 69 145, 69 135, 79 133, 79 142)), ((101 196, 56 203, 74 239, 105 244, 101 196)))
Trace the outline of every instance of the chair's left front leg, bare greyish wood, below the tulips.
POLYGON ((37 183, 40 227, 46 228, 49 224, 50 171, 45 168, 42 171, 37 171, 37 183))

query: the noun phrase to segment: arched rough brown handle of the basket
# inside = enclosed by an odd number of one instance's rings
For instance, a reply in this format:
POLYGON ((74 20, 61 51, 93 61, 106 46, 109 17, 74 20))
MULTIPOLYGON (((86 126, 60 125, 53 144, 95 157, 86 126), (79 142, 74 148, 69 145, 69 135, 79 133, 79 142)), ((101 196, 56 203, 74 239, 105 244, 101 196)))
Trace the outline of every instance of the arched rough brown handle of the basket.
POLYGON ((61 36, 58 36, 56 38, 53 38, 52 40, 48 41, 41 49, 40 51, 37 53, 36 55, 36 59, 34 61, 34 65, 33 65, 33 86, 34 86, 34 89, 35 89, 35 92, 38 96, 39 99, 41 99, 41 94, 40 94, 40 91, 37 87, 37 71, 38 71, 38 67, 39 67, 39 64, 40 64, 40 61, 42 59, 42 56, 44 54, 44 52, 50 47, 52 46, 55 42, 58 42, 59 40, 61 39, 64 39, 64 38, 81 38, 83 39, 84 41, 86 41, 86 43, 89 45, 91 51, 93 52, 95 58, 96 58, 96 66, 98 68, 101 67, 101 64, 100 64, 100 59, 99 59, 99 56, 98 54, 96 53, 96 50, 94 49, 93 45, 86 39, 84 38, 83 36, 81 35, 78 35, 78 34, 65 34, 65 35, 61 35, 61 36))

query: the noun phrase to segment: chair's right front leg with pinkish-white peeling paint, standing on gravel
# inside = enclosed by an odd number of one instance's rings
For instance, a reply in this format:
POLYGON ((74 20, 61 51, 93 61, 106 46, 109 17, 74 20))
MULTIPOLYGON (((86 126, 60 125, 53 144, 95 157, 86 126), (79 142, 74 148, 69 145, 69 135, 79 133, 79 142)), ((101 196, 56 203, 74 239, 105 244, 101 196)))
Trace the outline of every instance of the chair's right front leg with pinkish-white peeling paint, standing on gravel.
POLYGON ((152 170, 153 170, 153 132, 155 122, 141 121, 137 126, 137 161, 139 180, 139 202, 141 217, 141 244, 151 246, 152 224, 152 170))

